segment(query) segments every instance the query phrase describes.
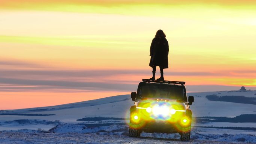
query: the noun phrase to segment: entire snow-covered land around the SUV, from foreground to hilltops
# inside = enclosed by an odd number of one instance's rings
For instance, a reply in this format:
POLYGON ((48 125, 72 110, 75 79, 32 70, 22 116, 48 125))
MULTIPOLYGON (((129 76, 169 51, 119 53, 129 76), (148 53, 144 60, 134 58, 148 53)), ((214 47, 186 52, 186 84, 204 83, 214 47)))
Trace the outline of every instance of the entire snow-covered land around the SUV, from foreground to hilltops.
POLYGON ((0 110, 0 143, 256 143, 256 122, 199 122, 196 118, 207 116, 210 117, 208 120, 214 120, 218 117, 256 114, 256 104, 210 101, 205 97, 217 95, 255 98, 256 91, 201 92, 188 95, 195 97, 195 102, 191 105, 195 120, 192 121, 190 142, 180 141, 179 134, 143 132, 142 138, 127 137, 129 120, 126 119, 129 118, 129 108, 133 101, 130 95, 120 95, 51 107, 0 110), (117 119, 96 120, 95 117, 117 119), (78 121, 83 118, 95 120, 78 121))

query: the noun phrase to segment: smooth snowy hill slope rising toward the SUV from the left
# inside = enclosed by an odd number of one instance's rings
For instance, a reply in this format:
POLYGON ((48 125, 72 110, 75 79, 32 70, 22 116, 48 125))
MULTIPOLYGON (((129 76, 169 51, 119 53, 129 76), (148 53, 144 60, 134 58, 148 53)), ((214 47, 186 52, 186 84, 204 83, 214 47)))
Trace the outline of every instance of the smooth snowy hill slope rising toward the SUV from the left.
POLYGON ((3 120, 16 119, 40 119, 40 120, 60 120, 64 123, 77 123, 77 119, 83 117, 128 117, 126 111, 133 105, 130 95, 112 96, 91 101, 77 102, 66 105, 56 105, 51 107, 28 108, 13 110, 9 113, 26 114, 55 114, 51 116, 0 116, 3 120))

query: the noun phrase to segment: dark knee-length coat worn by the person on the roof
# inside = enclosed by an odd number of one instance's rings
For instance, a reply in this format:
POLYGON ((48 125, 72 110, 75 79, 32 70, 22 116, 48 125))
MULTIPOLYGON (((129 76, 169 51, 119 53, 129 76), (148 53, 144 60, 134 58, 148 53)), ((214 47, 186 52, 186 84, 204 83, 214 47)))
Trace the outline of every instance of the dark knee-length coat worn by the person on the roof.
POLYGON ((169 45, 167 39, 154 38, 150 46, 150 62, 149 66, 153 68, 154 65, 168 68, 168 53, 169 45))

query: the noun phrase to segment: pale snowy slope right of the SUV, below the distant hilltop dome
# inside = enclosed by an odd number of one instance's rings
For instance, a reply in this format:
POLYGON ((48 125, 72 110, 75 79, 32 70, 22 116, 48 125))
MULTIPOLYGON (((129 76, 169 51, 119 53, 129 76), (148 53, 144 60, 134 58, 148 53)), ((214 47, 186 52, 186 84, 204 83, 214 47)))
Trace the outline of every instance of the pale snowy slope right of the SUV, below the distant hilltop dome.
POLYGON ((234 102, 223 101, 209 101, 205 98, 206 95, 217 96, 245 96, 256 97, 256 91, 223 91, 223 92, 200 92, 189 93, 195 97, 195 102, 191 105, 193 116, 223 116, 223 117, 235 117, 241 114, 256 114, 256 105, 254 104, 241 104, 234 102))

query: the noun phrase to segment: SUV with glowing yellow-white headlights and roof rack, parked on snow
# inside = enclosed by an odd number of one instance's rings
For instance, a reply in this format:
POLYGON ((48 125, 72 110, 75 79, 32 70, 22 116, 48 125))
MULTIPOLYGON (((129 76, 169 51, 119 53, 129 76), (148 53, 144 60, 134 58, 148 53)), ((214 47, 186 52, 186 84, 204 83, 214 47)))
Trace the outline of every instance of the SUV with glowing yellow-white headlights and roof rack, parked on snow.
POLYGON ((185 82, 142 79, 137 93, 132 92, 134 105, 130 108, 129 137, 144 132, 179 133, 180 140, 190 140, 192 111, 187 99, 185 82))

